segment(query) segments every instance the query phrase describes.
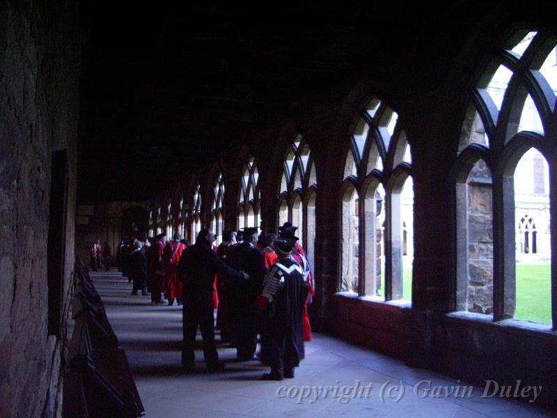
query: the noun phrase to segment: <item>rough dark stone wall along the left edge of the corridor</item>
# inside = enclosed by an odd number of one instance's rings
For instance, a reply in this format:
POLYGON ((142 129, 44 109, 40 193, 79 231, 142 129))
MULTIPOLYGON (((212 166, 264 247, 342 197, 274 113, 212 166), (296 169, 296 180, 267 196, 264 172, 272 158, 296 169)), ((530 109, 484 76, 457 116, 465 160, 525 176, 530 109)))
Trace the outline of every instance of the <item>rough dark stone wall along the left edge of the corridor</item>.
POLYGON ((81 35, 77 2, 0 6, 0 416, 61 414, 74 265, 81 35), (51 164, 67 150, 61 330, 48 335, 51 164))

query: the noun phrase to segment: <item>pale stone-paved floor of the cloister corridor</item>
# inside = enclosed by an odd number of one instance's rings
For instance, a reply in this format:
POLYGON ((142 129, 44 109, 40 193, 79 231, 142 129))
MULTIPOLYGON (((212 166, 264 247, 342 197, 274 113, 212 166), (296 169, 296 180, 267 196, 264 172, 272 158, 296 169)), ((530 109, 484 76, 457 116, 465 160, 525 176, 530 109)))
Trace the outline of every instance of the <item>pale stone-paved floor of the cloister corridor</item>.
POLYGON ((266 368, 257 361, 235 362, 235 350, 222 344, 219 355, 226 371, 207 373, 199 334, 196 369, 185 373, 180 367, 180 307, 154 306, 148 296, 132 296, 131 284, 116 272, 91 277, 126 350, 146 417, 554 416, 535 403, 482 397, 483 387, 411 369, 322 334, 306 344, 306 359, 294 379, 261 381, 266 368), (437 397, 427 392, 435 387, 437 397), (451 387, 453 395, 446 396, 443 391, 451 387))

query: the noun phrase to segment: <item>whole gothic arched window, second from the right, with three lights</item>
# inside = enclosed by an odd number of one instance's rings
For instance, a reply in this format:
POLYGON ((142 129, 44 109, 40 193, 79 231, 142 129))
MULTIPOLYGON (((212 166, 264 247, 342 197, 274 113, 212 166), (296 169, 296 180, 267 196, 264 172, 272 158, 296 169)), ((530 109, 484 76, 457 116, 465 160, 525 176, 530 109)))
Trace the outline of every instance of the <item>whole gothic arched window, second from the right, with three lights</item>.
POLYGON ((414 188, 410 146, 398 114, 372 98, 356 117, 347 148, 340 291, 411 300, 414 188))

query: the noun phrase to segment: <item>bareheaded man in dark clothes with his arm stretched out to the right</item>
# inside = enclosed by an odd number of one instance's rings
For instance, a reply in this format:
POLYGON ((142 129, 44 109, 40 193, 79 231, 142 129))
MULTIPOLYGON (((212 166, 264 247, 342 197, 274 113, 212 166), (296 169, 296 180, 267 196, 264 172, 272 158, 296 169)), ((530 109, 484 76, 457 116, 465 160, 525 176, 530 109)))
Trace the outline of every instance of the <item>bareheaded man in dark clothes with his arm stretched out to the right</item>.
POLYGON ((198 327, 201 328, 203 337, 203 355, 207 369, 223 369, 214 344, 214 275, 219 273, 226 276, 227 280, 249 279, 248 274, 234 270, 221 261, 211 248, 215 239, 216 235, 212 231, 201 229, 195 245, 182 252, 178 263, 178 279, 184 282, 182 366, 185 369, 194 366, 194 343, 198 327))

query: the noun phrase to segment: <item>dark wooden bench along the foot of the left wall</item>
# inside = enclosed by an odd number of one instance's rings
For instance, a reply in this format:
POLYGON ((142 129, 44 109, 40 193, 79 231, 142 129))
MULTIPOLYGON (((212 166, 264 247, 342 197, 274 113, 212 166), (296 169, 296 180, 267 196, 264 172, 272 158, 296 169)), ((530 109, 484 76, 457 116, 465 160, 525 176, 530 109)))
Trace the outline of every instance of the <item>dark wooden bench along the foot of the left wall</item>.
POLYGON ((118 346, 86 267, 79 264, 75 269, 75 325, 68 348, 63 416, 142 417, 145 408, 125 351, 118 346))

